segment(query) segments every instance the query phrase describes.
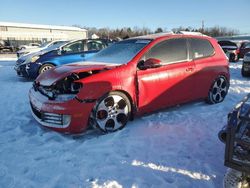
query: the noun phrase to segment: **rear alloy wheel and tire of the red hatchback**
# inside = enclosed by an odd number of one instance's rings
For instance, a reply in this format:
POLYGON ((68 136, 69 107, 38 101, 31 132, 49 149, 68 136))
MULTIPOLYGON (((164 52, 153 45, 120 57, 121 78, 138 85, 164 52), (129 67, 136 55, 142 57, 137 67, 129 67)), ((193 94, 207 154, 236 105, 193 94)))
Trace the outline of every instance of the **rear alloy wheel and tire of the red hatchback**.
POLYGON ((228 92, 229 82, 225 76, 217 77, 210 87, 206 102, 209 104, 216 104, 222 102, 228 92))

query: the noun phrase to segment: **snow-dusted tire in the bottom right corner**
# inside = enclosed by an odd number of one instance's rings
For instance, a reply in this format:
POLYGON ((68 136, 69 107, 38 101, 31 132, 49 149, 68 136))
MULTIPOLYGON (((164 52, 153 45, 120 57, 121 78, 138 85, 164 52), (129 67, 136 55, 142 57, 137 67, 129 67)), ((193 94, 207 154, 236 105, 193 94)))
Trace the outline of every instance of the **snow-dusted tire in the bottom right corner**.
POLYGON ((228 169, 224 177, 224 188, 250 188, 248 178, 242 172, 228 169))

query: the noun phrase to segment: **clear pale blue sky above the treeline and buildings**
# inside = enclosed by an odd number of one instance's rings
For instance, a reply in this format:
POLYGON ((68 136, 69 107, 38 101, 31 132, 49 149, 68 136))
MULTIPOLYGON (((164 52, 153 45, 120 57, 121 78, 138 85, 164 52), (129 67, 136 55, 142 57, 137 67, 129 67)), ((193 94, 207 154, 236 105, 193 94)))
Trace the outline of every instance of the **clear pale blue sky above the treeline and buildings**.
POLYGON ((0 21, 88 27, 223 26, 250 34, 250 0, 5 0, 0 21))

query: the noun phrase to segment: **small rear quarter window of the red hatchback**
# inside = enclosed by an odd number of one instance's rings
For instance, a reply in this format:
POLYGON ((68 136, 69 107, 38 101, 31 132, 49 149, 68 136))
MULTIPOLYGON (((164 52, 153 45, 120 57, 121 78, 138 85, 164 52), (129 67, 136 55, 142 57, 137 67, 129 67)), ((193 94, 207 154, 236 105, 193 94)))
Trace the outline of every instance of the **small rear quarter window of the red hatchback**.
POLYGON ((214 54, 214 48, 206 39, 189 39, 190 44, 190 58, 198 59, 209 57, 214 54))

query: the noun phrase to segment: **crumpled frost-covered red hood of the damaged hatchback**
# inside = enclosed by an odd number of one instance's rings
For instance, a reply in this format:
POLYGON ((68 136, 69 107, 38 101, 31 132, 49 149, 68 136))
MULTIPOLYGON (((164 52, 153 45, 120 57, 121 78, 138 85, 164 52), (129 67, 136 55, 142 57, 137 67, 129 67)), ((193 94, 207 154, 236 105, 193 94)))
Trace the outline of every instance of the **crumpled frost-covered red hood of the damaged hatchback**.
POLYGON ((72 73, 88 72, 95 70, 110 70, 119 64, 109 64, 104 62, 81 62, 74 64, 67 64, 59 67, 52 68, 43 74, 39 75, 36 82, 43 86, 51 86, 53 83, 65 78, 72 73))

